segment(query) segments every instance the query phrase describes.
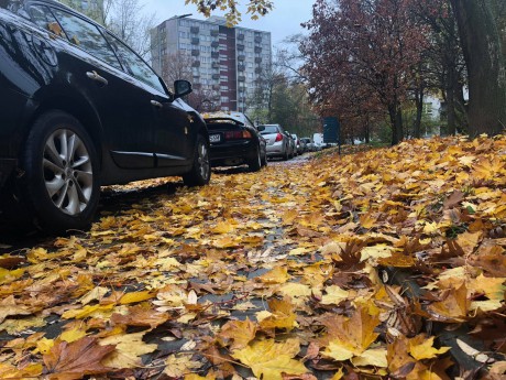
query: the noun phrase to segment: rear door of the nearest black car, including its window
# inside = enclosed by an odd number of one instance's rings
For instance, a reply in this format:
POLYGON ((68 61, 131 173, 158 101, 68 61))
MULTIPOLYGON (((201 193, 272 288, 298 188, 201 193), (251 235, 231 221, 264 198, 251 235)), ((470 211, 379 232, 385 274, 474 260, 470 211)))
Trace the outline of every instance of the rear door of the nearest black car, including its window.
MULTIPOLYGON (((36 10, 47 14, 44 8, 32 6, 32 15, 36 10)), ((52 7, 51 14, 56 20, 45 23, 50 31, 69 41, 61 64, 72 75, 62 80, 78 88, 95 107, 106 152, 120 167, 153 167, 155 121, 146 86, 124 70, 100 28, 61 8, 52 7)))

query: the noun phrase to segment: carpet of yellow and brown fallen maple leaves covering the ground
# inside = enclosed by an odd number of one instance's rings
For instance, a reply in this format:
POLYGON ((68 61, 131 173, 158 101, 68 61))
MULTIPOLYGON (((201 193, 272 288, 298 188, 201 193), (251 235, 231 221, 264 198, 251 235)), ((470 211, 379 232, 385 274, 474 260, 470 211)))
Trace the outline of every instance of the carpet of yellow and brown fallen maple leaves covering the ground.
POLYGON ((505 248, 505 137, 216 174, 1 257, 0 378, 501 379, 505 248))

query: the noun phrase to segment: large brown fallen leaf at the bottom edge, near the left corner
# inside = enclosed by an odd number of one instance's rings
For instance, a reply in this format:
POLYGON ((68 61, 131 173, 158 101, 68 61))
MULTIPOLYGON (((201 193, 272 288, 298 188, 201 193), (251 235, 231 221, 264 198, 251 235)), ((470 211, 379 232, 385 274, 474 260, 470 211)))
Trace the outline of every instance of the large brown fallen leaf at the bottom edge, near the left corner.
POLYGON ((53 348, 43 356, 50 379, 80 379, 85 374, 105 373, 110 368, 100 363, 114 346, 100 346, 97 339, 86 336, 73 343, 55 341, 53 348))

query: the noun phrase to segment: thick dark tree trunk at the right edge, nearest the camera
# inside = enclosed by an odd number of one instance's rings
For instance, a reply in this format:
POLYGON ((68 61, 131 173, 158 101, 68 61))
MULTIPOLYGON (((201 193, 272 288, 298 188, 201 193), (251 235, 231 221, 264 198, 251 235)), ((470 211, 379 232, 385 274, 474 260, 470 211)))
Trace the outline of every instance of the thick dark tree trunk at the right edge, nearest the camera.
POLYGON ((451 0, 469 75, 470 135, 497 134, 506 126, 506 70, 487 0, 451 0))

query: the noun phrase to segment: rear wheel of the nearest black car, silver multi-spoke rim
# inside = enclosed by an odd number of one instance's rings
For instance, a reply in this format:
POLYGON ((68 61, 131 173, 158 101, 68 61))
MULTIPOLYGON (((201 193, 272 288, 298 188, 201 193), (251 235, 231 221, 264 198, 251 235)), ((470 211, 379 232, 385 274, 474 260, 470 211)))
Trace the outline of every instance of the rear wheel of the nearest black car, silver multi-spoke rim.
POLYGON ((50 232, 89 227, 100 197, 95 145, 73 116, 42 115, 32 126, 21 159, 21 192, 36 227, 50 232))

